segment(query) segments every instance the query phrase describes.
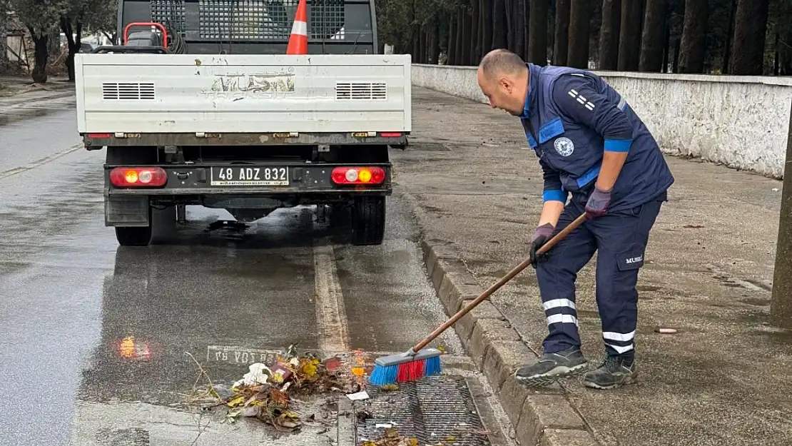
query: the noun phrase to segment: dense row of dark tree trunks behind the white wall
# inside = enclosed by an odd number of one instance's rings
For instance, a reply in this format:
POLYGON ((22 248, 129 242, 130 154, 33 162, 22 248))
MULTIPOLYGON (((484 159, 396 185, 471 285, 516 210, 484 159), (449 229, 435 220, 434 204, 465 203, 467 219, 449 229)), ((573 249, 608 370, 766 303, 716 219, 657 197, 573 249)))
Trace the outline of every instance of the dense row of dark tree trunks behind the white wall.
POLYGON ((792 0, 379 0, 380 41, 416 63, 508 48, 609 71, 792 75, 792 0))

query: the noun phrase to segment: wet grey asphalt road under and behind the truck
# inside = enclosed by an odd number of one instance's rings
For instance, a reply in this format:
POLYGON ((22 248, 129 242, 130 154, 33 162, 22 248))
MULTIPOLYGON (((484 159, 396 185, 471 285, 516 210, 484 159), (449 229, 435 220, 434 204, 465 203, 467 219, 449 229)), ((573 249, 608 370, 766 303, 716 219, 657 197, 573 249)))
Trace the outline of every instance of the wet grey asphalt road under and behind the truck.
MULTIPOLYGON (((185 353, 230 385, 295 342, 401 352, 444 320, 398 196, 382 246, 345 244, 310 209, 208 231, 230 215, 188 208, 154 246, 121 248, 104 151, 78 142, 73 110, 0 126, 2 446, 192 444, 207 420, 180 410, 199 372, 185 353)), ((461 354, 453 330, 441 342, 461 354)), ((316 441, 210 424, 196 444, 316 441)))

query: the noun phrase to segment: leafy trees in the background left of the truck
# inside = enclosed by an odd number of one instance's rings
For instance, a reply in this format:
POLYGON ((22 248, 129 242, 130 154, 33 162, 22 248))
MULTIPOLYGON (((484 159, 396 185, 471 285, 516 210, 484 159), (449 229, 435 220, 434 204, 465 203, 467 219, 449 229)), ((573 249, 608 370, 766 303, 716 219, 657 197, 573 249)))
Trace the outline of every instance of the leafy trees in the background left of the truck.
MULTIPOLYGON (((82 46, 83 33, 112 32, 116 28, 116 11, 116 2, 109 0, 0 0, 0 36, 5 36, 7 13, 13 12, 33 42, 33 81, 46 82, 50 48, 53 46, 50 40, 63 32, 69 50, 67 71, 69 80, 74 82, 74 54, 82 46)), ((0 43, 0 52, 5 56, 5 41, 0 43)), ((59 42, 54 46, 59 47, 59 42)))

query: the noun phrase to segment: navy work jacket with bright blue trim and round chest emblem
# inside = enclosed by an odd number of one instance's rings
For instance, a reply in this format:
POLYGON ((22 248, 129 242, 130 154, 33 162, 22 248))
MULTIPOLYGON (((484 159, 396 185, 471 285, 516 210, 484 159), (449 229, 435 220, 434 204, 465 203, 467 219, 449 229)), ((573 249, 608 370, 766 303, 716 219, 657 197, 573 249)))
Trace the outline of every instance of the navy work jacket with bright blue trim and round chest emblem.
POLYGON ((656 199, 673 184, 657 141, 603 78, 571 67, 526 65, 520 120, 543 169, 544 201, 566 203, 569 193, 590 194, 605 151, 627 152, 608 212, 656 199))

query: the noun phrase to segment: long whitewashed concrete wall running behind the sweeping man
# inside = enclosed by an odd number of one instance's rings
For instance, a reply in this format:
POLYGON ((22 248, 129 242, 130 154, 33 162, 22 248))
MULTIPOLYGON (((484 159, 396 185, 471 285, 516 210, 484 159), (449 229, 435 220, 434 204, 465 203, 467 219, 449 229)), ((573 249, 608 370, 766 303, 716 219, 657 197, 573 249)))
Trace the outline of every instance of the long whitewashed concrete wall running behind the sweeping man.
MULTIPOLYGON (((792 78, 601 72, 662 150, 781 178, 792 78)), ((413 85, 487 103, 476 67, 413 64, 413 85)))

